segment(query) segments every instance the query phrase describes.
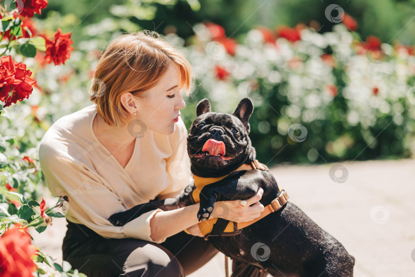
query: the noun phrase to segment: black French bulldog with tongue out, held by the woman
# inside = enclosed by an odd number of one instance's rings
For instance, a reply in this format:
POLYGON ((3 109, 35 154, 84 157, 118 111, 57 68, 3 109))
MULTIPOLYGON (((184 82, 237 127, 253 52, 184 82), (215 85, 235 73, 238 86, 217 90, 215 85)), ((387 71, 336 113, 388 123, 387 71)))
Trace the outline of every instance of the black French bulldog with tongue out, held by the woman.
MULTIPOLYGON (((211 112, 208 99, 197 104, 197 118, 188 136, 188 154, 193 174, 200 177, 224 176, 242 164, 250 164, 255 160, 256 152, 248 137, 248 119, 252 112, 253 103, 249 98, 242 99, 233 114, 211 112), (206 146, 211 139, 220 144, 206 146)), ((280 193, 274 177, 268 171, 259 169, 237 171, 223 180, 204 186, 200 193, 199 221, 210 217, 216 201, 246 200, 253 197, 259 187, 264 190, 260 200, 264 206, 280 193)), ((156 208, 172 210, 191 205, 190 195, 194 189, 195 185, 191 183, 176 198, 137 205, 112 215, 109 221, 122 226, 156 208)), ((243 228, 239 235, 210 236, 208 239, 228 257, 256 265, 273 276, 353 275, 355 259, 343 245, 289 201, 279 210, 243 228), (255 253, 258 242, 259 248, 263 248, 259 250, 263 251, 262 256, 255 253), (267 251, 269 257, 264 258, 267 251)))

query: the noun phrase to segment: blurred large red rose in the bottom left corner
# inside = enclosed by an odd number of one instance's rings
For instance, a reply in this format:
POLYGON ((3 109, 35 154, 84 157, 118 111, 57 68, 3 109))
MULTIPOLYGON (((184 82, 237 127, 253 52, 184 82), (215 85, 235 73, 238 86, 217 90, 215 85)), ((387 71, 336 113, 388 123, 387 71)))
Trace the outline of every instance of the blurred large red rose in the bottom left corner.
MULTIPOLYGON (((15 226, 18 226, 15 224, 15 226)), ((36 248, 30 243, 30 235, 26 228, 8 229, 0 237, 0 276, 32 277, 36 264, 32 255, 36 248)))

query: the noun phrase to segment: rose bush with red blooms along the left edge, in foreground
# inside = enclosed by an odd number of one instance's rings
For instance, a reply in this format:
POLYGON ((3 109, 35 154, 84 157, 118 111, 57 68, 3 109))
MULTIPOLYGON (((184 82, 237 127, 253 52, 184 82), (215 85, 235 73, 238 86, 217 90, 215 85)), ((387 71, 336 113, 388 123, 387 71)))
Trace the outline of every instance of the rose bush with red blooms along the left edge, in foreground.
MULTIPOLYGON (((17 5, 15 9, 0 6, 0 101, 4 103, 0 106, 0 275, 85 276, 71 269, 66 261, 62 265, 53 262, 51 257, 31 244, 28 228, 41 233, 47 225, 52 225, 53 217, 64 217, 68 199, 59 198, 51 208, 47 208, 43 198, 40 204, 27 200, 38 198, 36 186, 42 179, 36 161, 30 157, 35 143, 25 143, 7 134, 7 131, 13 132, 13 128, 7 125, 12 122, 5 120, 9 115, 3 110, 17 101, 28 99, 33 91, 36 80, 32 71, 27 69, 26 60, 33 59, 37 51, 44 51, 46 63, 65 63, 73 50, 71 33, 61 34, 58 29, 52 40, 42 34, 36 36, 35 27, 28 17, 40 14, 48 1, 20 0, 14 4, 17 5)), ((26 127, 22 124, 24 121, 13 123, 26 127)))

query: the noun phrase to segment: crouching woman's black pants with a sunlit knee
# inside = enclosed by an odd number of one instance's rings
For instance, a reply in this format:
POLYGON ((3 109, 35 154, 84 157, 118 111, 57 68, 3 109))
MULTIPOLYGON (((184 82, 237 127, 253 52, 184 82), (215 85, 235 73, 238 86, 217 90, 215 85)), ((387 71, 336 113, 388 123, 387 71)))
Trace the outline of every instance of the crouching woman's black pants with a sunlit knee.
MULTIPOLYGON (((218 250, 203 238, 185 232, 161 244, 137 239, 106 239, 85 225, 68 221, 63 260, 88 277, 181 277, 209 262, 218 250)), ((234 277, 260 277, 255 266, 233 263, 234 277)))

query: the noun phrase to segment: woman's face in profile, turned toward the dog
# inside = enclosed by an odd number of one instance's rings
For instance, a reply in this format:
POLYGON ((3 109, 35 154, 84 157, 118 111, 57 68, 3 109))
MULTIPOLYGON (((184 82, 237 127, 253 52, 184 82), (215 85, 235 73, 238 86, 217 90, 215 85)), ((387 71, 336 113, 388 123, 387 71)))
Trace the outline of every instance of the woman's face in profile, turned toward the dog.
POLYGON ((143 92, 143 98, 136 98, 138 106, 135 119, 143 121, 148 130, 164 135, 173 134, 179 110, 186 106, 179 92, 180 80, 178 66, 171 64, 155 87, 143 92))

